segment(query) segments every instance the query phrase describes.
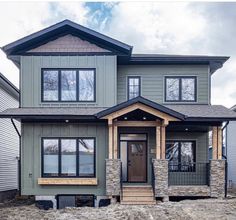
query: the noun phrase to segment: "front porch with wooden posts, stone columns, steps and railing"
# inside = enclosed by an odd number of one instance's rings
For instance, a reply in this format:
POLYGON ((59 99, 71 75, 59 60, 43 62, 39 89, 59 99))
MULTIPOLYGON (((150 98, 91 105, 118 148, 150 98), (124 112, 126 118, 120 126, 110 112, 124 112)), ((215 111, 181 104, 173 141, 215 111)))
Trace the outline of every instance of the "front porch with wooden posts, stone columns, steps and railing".
POLYGON ((129 204, 146 204, 147 198, 142 201, 135 192, 151 187, 148 202, 171 196, 224 197, 221 123, 185 123, 180 115, 168 113, 136 103, 103 117, 109 126, 108 196, 120 197, 122 202, 127 187, 136 187, 129 204), (208 159, 210 130, 212 160, 208 159))

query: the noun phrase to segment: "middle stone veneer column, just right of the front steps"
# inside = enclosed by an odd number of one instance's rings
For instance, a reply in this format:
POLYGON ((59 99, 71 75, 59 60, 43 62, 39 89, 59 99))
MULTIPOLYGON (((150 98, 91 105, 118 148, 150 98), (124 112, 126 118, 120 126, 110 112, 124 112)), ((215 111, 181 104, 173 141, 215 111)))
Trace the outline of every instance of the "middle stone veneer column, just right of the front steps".
POLYGON ((153 159, 155 197, 168 198, 168 160, 153 159))

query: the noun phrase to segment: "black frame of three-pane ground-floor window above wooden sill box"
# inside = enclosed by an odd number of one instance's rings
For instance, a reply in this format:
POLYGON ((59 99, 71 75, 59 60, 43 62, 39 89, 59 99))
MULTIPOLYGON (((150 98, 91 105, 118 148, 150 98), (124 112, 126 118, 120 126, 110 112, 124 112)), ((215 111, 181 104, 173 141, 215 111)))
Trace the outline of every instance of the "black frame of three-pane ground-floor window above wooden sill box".
POLYGON ((95 137, 41 137, 41 177, 43 178, 96 178, 96 138, 95 137), (57 139, 58 140, 58 175, 48 176, 44 173, 44 140, 57 139), (75 139, 76 140, 76 175, 63 176, 61 173, 61 140, 62 139, 75 139), (79 175, 79 139, 90 139, 94 143, 94 156, 93 156, 93 175, 79 175))

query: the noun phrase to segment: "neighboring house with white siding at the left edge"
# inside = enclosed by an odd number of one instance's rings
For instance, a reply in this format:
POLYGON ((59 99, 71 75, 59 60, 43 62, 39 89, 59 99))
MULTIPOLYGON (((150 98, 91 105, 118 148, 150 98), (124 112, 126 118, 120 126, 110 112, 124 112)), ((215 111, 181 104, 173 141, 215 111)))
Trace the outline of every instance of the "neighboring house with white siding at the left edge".
MULTIPOLYGON (((18 107, 18 89, 0 73, 0 111, 18 107)), ((18 159, 19 137, 11 120, 0 118, 0 202, 18 190, 18 159)))

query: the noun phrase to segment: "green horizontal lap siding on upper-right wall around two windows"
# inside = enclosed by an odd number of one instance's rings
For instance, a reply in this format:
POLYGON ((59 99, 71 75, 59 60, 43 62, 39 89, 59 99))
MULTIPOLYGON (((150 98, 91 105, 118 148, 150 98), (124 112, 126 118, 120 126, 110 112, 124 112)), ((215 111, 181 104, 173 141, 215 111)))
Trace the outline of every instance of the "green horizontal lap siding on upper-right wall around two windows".
POLYGON ((128 76, 140 76, 141 96, 157 103, 164 103, 165 100, 165 76, 197 76, 197 104, 209 104, 210 77, 207 65, 119 65, 118 103, 127 100, 128 76))

